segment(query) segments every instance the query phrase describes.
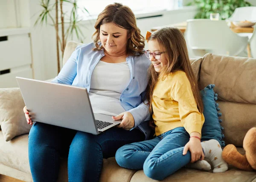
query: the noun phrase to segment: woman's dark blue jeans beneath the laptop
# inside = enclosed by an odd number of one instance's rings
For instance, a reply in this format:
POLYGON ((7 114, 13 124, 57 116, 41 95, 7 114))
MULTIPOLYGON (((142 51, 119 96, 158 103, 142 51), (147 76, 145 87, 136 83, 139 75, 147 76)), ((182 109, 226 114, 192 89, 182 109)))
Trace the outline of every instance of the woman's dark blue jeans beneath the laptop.
POLYGON ((99 181, 103 158, 115 156, 126 144, 145 135, 138 129, 113 127, 93 135, 68 128, 35 122, 29 132, 29 165, 34 182, 55 182, 61 156, 68 156, 69 182, 99 181))

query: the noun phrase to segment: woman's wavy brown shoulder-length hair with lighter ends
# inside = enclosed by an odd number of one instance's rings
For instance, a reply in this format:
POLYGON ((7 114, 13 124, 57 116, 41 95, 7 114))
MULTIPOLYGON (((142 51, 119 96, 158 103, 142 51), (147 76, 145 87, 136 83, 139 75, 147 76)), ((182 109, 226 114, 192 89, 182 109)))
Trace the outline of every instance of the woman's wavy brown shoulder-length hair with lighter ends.
POLYGON ((108 5, 98 16, 94 28, 96 31, 93 34, 93 41, 96 48, 94 51, 99 51, 103 47, 99 47, 99 28, 105 23, 114 23, 116 26, 125 28, 130 34, 127 43, 127 54, 136 55, 143 53, 145 46, 144 37, 140 34, 140 29, 136 25, 134 13, 128 6, 123 6, 120 3, 108 5))

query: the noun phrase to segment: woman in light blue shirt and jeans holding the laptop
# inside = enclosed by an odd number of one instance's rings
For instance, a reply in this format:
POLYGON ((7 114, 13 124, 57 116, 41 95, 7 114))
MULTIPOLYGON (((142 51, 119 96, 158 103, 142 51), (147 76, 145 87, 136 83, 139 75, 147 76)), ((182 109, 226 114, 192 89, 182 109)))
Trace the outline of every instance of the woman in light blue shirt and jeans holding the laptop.
MULTIPOLYGON (((35 122, 29 132, 34 182, 56 181, 60 156, 68 149, 69 181, 99 181, 103 158, 115 156, 122 145, 148 139, 150 128, 143 121, 150 114, 143 98, 150 61, 135 16, 114 3, 99 14, 95 28, 94 43, 78 46, 52 82, 87 88, 94 113, 122 122, 99 135, 35 122)), ((32 125, 26 107, 24 113, 32 125)))

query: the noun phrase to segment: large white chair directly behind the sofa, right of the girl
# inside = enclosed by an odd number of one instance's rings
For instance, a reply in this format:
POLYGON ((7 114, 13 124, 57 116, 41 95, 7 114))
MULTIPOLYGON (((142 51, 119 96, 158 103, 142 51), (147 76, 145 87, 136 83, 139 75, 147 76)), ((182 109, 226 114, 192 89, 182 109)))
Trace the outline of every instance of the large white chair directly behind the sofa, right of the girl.
POLYGON ((227 26, 225 20, 187 20, 185 31, 189 57, 206 53, 237 56, 247 46, 248 37, 240 37, 227 26))

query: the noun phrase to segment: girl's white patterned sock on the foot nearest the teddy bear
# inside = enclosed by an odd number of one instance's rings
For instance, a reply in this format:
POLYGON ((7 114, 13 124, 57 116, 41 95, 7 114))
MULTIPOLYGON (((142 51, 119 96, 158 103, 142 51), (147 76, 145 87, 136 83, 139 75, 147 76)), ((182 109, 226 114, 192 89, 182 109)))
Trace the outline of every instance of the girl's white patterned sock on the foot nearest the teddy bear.
POLYGON ((222 159, 222 149, 219 142, 215 139, 201 142, 204 149, 204 156, 209 159, 213 165, 213 173, 222 173, 227 171, 228 164, 222 159))

